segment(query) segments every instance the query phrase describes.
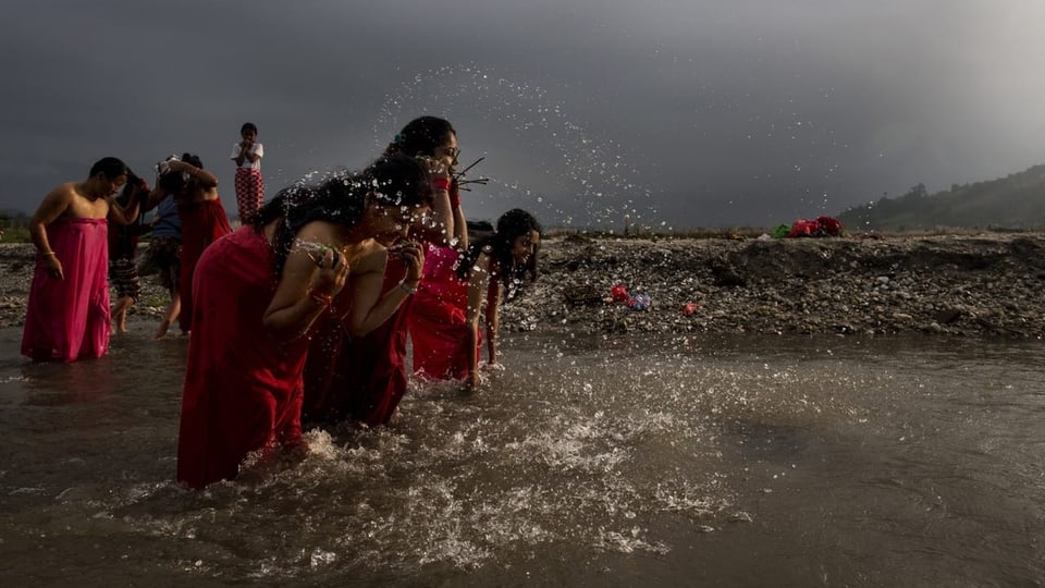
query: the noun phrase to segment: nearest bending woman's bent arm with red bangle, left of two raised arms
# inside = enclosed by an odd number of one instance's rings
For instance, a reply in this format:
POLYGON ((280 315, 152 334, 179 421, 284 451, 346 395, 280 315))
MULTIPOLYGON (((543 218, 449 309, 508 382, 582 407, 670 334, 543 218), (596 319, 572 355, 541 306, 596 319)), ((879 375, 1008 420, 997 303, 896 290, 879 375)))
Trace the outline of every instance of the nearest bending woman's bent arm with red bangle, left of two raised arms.
MULTIPOLYGON (((333 243, 334 232, 325 222, 312 222, 298 231, 295 242, 299 241, 333 243)), ((281 341, 305 334, 345 286, 347 278, 348 264, 341 252, 331 248, 320 258, 309 248, 294 245, 272 302, 265 310, 265 328, 281 341)))

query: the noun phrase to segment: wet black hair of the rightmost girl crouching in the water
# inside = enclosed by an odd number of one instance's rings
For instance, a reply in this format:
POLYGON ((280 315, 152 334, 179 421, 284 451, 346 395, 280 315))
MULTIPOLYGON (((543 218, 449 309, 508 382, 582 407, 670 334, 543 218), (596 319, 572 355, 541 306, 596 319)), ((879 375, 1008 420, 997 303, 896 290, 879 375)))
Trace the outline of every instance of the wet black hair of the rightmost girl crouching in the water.
POLYGON ((530 232, 542 233, 541 223, 537 221, 533 215, 520 208, 513 208, 497 219, 496 231, 474 244, 460 256, 457 262, 457 277, 462 280, 468 279, 476 260, 481 253, 487 253, 493 258, 491 273, 504 284, 505 298, 511 299, 517 291, 527 282, 537 280, 538 265, 537 256, 540 253, 540 243, 533 245, 533 255, 527 259, 526 264, 516 264, 512 255, 512 248, 515 240, 530 232))

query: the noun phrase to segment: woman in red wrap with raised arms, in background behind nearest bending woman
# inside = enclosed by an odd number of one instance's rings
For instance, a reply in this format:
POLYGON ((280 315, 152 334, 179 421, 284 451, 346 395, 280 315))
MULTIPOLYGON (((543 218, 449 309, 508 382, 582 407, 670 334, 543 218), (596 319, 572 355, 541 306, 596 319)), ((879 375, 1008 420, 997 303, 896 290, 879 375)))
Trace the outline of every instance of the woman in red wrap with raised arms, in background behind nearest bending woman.
POLYGON ((177 201, 182 221, 182 274, 179 296, 182 310, 177 318, 182 333, 187 333, 193 318, 193 274, 196 262, 211 243, 232 232, 229 217, 218 196, 218 176, 204 169, 199 157, 185 154, 160 164, 157 189, 149 203, 159 203, 168 194, 177 201))

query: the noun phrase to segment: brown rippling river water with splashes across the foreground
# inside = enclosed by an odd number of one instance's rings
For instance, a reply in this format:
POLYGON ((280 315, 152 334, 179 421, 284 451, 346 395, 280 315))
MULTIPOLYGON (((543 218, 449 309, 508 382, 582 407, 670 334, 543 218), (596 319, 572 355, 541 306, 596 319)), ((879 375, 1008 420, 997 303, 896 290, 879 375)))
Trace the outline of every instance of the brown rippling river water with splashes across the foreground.
POLYGON ((172 481, 185 340, 0 330, 0 585, 1040 586, 1045 351, 512 333, 484 389, 172 481))

